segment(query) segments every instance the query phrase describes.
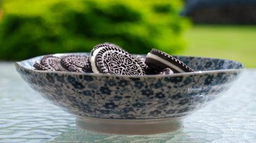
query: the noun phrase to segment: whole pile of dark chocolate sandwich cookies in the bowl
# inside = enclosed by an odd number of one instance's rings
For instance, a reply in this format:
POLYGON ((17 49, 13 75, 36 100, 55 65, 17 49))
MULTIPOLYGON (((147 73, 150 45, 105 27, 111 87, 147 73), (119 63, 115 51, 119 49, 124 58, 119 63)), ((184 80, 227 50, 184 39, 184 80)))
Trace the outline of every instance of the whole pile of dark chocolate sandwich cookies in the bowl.
POLYGON ((147 56, 133 56, 111 43, 96 45, 85 55, 44 56, 33 65, 41 71, 93 72, 96 74, 152 75, 194 72, 180 60, 157 49, 147 56))

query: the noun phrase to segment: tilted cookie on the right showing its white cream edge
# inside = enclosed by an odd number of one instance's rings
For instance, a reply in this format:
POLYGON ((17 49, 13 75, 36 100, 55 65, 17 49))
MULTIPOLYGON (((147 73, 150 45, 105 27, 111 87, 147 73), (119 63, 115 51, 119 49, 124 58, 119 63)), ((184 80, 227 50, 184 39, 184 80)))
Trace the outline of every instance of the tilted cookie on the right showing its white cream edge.
POLYGON ((193 69, 186 66, 182 61, 154 48, 150 53, 147 53, 145 63, 157 72, 160 72, 165 68, 170 68, 174 73, 194 72, 193 69))

